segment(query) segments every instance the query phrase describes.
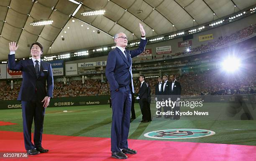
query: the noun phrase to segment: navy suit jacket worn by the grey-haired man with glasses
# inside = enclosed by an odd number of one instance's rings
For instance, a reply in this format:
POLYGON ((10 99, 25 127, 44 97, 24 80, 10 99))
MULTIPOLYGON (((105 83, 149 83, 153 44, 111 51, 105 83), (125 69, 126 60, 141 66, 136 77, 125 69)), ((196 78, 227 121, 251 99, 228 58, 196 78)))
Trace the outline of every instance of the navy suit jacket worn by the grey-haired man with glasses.
POLYGON ((145 50, 146 43, 147 40, 141 39, 137 49, 131 51, 126 49, 128 60, 118 48, 115 48, 108 53, 105 74, 110 84, 110 91, 125 87, 132 82, 131 73, 129 71, 132 64, 131 58, 141 54, 145 50))

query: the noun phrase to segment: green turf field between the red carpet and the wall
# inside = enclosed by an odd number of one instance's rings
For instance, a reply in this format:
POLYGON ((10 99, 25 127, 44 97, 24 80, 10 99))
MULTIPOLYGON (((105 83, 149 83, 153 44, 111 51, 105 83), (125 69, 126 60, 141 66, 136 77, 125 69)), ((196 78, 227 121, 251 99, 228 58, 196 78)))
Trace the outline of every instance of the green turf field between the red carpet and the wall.
MULTIPOLYGON (((224 107, 236 105, 227 103, 205 103, 199 111, 211 109, 208 116, 184 116, 181 120, 170 120, 156 117, 156 107, 151 104, 153 120, 149 123, 141 123, 141 111, 135 104, 136 119, 131 122, 129 138, 156 140, 144 137, 144 133, 156 130, 174 128, 197 128, 212 130, 216 134, 203 138, 161 141, 186 141, 200 143, 227 143, 256 146, 256 120, 227 120, 224 107)), ((248 107, 251 108, 251 107, 248 107)), ((181 107, 182 111, 192 110, 181 107)), ((238 109, 238 107, 235 107, 238 109)), ((193 109, 195 110, 195 109, 193 109)), ((241 109, 240 109, 241 110, 241 109)), ((243 108, 242 108, 243 110, 243 108)), ((229 110, 230 111, 230 110, 229 110)), ((17 125, 0 126, 0 130, 22 132, 21 109, 0 110, 0 121, 17 123, 17 125)), ((44 134, 108 137, 110 138, 112 109, 109 105, 90 105, 72 107, 48 107, 44 118, 44 134), (67 110, 68 112, 63 112, 67 110)), ((32 127, 33 131, 33 127, 32 127)))

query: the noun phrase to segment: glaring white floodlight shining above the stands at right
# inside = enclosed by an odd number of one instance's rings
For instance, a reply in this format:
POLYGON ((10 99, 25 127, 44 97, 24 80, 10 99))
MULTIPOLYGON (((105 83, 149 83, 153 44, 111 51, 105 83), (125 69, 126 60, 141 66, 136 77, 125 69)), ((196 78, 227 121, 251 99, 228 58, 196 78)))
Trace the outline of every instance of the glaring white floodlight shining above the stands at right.
POLYGON ((222 67, 227 72, 235 72, 241 66, 240 60, 235 57, 228 57, 223 61, 222 67))

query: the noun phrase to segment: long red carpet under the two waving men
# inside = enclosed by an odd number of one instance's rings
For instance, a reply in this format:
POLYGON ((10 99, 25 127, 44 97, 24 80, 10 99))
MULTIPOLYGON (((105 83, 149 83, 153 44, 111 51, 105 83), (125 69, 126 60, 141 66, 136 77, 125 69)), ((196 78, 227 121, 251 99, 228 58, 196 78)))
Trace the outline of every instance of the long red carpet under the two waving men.
MULTIPOLYGON (((0 153, 24 152, 23 133, 0 131, 0 153)), ((4 161, 118 161, 111 158, 110 138, 43 135, 49 153, 4 161)), ((256 146, 173 141, 129 140, 138 151, 127 161, 256 161, 256 146)))

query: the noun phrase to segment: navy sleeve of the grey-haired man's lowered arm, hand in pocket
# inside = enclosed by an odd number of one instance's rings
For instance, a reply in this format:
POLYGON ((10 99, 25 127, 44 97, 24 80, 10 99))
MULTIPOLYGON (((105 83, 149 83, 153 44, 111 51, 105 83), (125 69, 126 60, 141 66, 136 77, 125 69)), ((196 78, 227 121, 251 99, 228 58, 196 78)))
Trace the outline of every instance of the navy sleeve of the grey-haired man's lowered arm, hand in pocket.
POLYGON ((108 54, 105 74, 110 84, 111 91, 119 88, 119 84, 115 80, 115 75, 114 75, 115 65, 116 65, 116 54, 110 51, 110 53, 108 54))

